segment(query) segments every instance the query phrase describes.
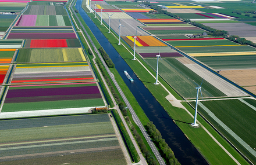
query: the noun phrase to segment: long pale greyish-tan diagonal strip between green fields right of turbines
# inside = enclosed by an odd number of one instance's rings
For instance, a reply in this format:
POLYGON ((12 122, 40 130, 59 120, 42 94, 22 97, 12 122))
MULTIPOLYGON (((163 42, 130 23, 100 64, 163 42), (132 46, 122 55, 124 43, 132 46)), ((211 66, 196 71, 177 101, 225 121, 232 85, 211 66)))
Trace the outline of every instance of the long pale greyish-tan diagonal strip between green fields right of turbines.
POLYGON ((183 63, 186 67, 191 69, 191 71, 195 72, 197 75, 201 76, 207 80, 207 82, 211 83, 211 85, 215 86, 217 89, 221 90, 227 97, 241 97, 248 96, 248 94, 244 93, 244 91, 240 90, 236 86, 231 85, 226 80, 223 80, 218 75, 208 71, 207 69, 201 67, 198 64, 195 64, 193 61, 189 62, 190 64, 186 64, 187 61, 180 60, 181 58, 177 58, 181 63, 183 63))

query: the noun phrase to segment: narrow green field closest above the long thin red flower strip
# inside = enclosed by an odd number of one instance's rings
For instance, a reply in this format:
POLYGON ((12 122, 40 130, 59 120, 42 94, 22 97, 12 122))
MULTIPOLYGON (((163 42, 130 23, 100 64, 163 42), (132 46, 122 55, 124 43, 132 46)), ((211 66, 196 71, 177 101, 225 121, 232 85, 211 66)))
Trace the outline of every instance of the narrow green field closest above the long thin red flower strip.
POLYGON ((151 34, 201 34, 204 30, 148 30, 151 34))

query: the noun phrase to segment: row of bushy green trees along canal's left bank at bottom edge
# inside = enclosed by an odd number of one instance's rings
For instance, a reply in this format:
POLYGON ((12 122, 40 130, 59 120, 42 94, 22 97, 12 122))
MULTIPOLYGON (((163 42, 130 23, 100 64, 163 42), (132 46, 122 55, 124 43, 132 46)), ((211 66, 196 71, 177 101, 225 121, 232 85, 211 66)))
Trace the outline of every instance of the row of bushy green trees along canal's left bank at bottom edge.
POLYGON ((152 141, 154 141, 154 143, 158 146, 163 159, 165 159, 166 161, 166 164, 180 164, 176 159, 172 149, 170 149, 168 144, 162 138, 161 133, 155 127, 153 122, 148 122, 146 129, 148 131, 148 134, 152 138, 152 141))

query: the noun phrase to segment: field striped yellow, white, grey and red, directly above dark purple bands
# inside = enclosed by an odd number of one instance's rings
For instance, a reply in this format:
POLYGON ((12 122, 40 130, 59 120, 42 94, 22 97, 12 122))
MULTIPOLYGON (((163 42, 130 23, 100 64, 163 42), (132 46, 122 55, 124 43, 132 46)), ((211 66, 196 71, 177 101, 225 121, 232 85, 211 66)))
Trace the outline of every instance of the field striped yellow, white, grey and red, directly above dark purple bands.
POLYGON ((87 62, 17 64, 12 85, 95 82, 87 62))

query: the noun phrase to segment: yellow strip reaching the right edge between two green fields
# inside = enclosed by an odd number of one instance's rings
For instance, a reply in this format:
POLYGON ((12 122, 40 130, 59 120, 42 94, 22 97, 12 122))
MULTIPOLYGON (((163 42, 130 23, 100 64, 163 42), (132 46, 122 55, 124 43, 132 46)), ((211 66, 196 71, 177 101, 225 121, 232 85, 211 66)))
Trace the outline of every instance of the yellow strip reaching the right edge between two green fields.
POLYGON ((239 56, 239 55, 254 55, 256 52, 218 52, 218 53, 188 53, 193 57, 200 56, 239 56))

